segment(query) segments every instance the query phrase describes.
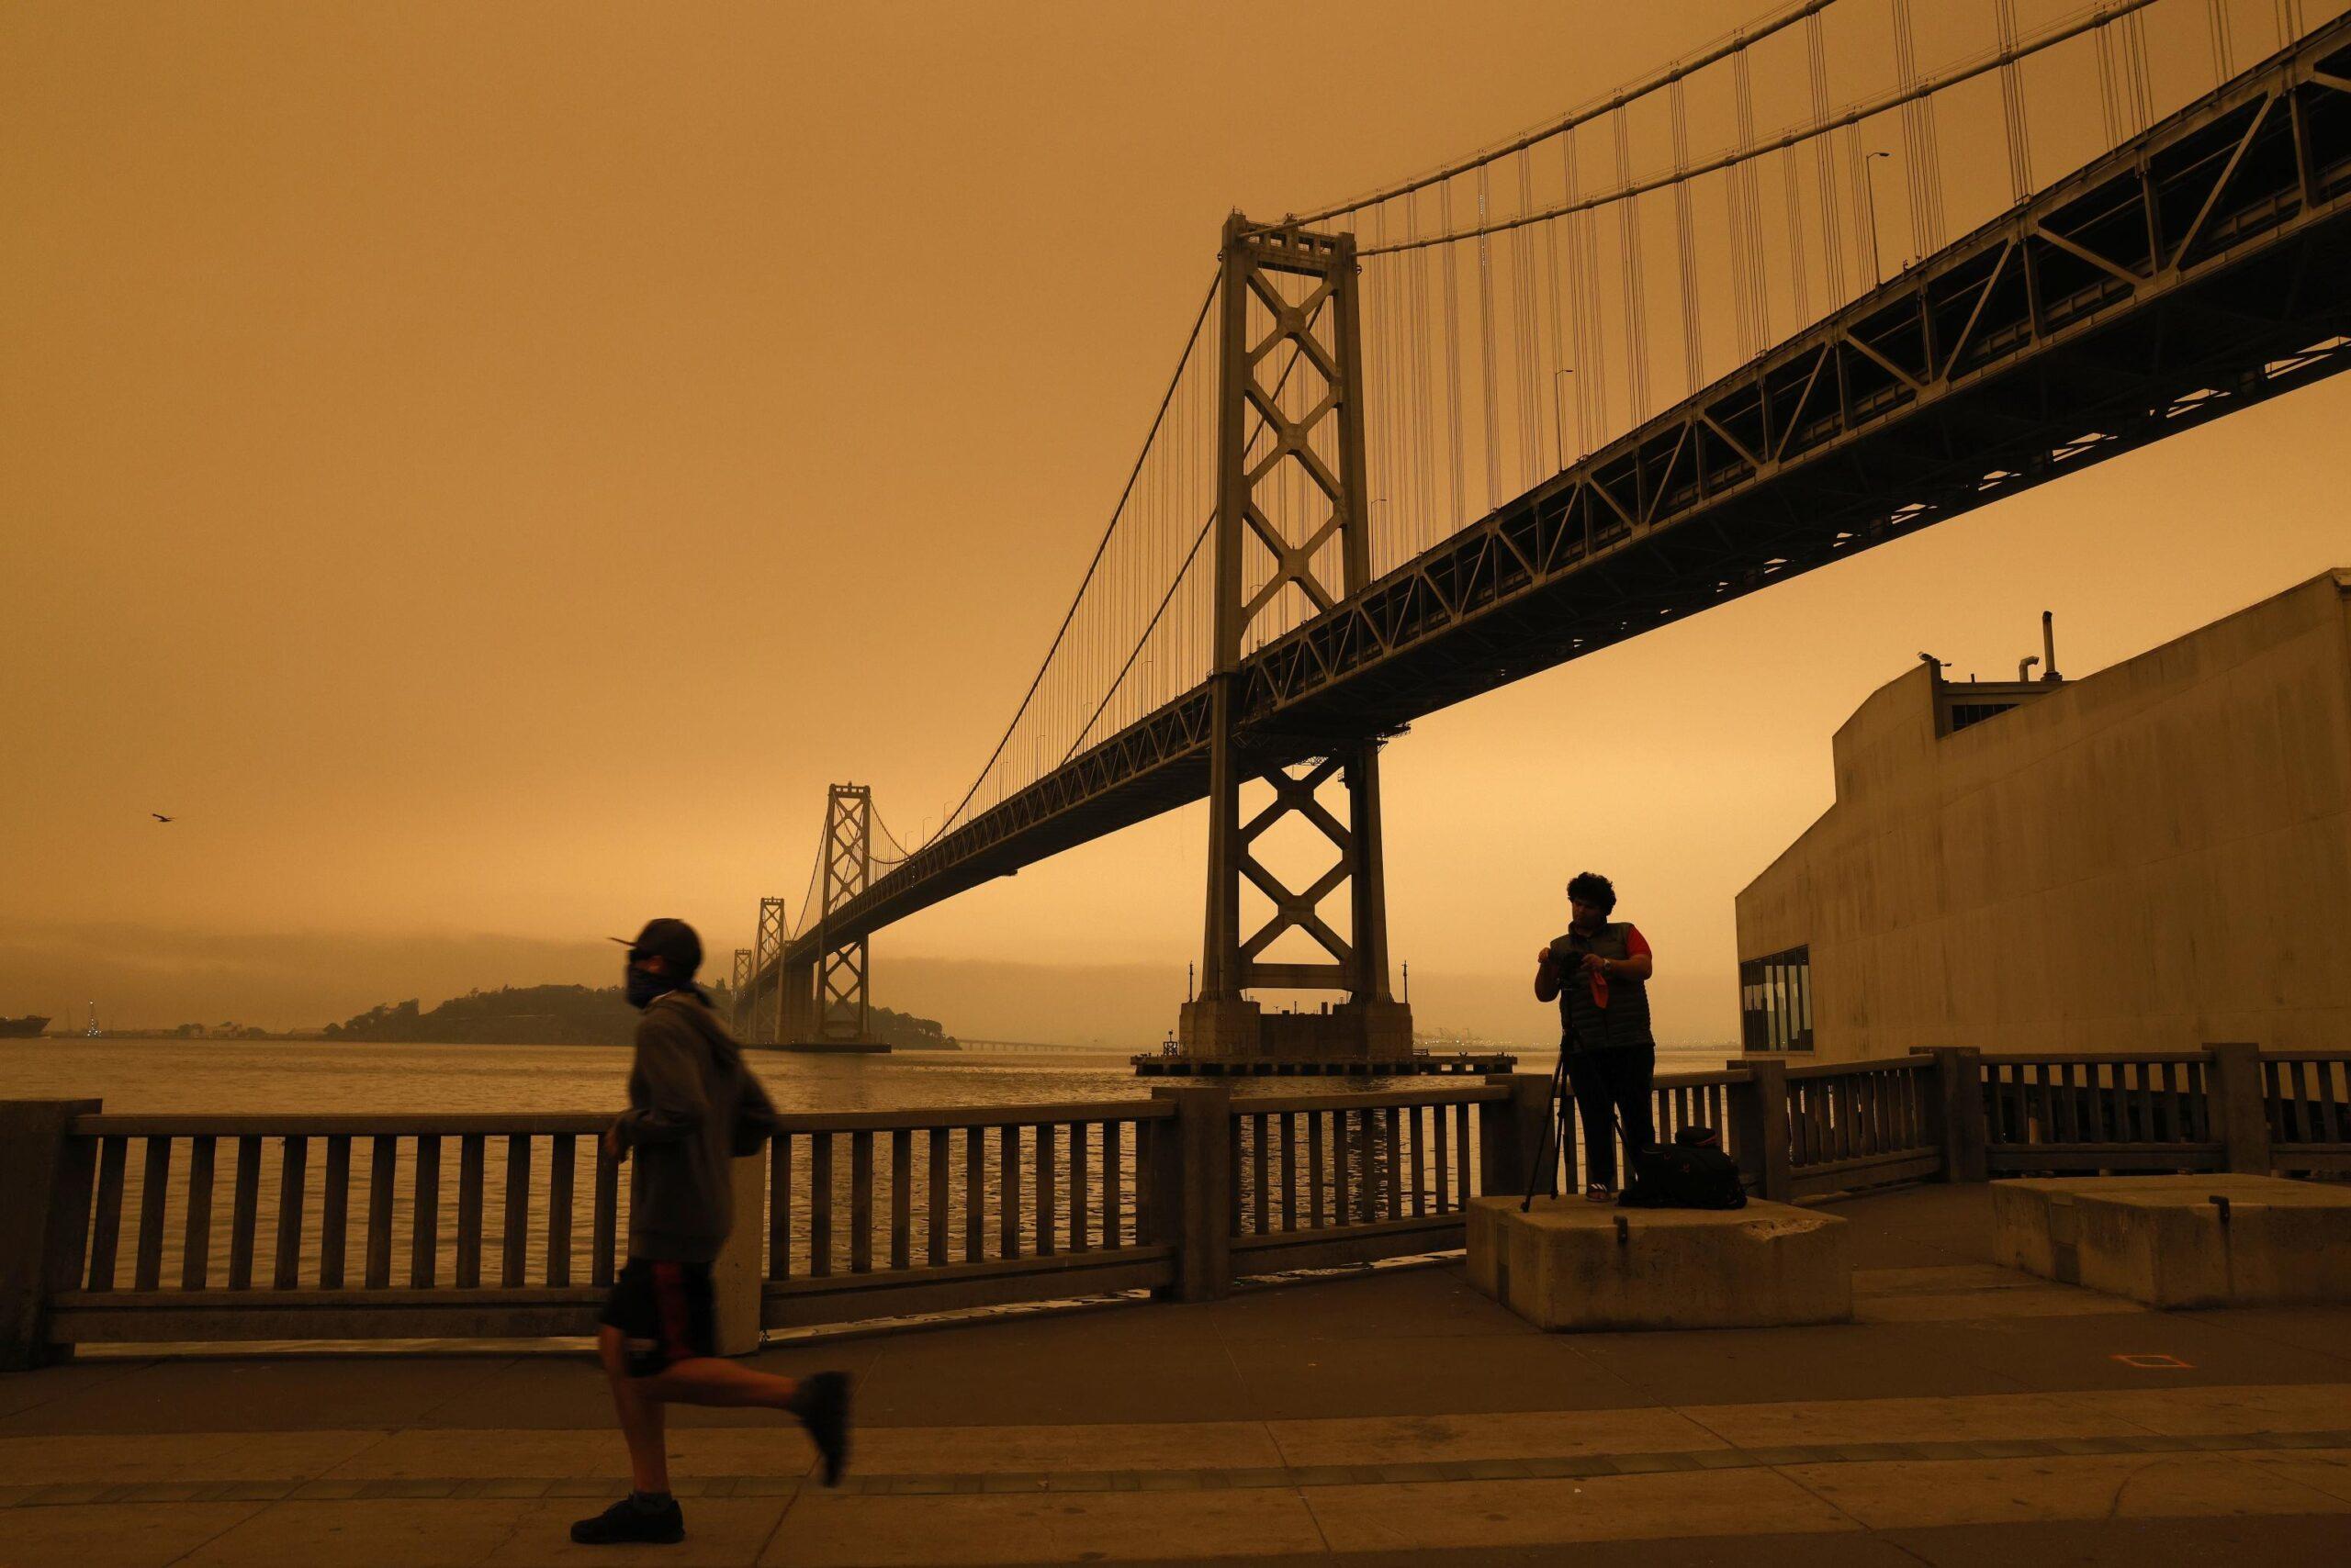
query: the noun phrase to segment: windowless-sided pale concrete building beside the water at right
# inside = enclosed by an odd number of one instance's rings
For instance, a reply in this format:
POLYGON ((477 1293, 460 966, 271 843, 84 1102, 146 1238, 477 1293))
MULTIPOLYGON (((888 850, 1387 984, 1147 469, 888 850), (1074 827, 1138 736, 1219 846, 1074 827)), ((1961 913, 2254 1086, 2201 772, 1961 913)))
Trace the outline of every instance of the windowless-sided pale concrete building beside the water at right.
POLYGON ((2351 1046, 2351 569, 2067 682, 1921 663, 1737 898, 1744 1046, 2351 1046))

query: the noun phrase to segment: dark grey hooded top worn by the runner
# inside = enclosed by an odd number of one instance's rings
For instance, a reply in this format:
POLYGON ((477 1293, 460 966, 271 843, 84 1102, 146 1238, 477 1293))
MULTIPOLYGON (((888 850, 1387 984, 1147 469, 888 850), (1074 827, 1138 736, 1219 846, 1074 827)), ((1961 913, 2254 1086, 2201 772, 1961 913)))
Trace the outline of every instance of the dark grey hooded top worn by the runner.
POLYGON ((628 1178, 628 1255, 710 1262, 734 1222, 736 1154, 776 1128, 766 1088, 743 1048, 691 990, 654 997, 637 1020, 621 1143, 628 1178))

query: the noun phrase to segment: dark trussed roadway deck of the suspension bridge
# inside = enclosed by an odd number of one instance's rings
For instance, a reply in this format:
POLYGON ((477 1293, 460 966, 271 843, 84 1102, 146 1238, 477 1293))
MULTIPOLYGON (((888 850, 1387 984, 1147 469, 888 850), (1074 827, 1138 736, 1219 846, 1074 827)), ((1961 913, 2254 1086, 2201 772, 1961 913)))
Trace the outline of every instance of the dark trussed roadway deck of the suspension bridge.
MULTIPOLYGON (((2266 402, 2351 367, 2346 339, 2351 19, 1251 654, 1246 762, 1396 733, 2266 402)), ((917 851, 830 940, 1206 792, 1199 686, 917 851)))

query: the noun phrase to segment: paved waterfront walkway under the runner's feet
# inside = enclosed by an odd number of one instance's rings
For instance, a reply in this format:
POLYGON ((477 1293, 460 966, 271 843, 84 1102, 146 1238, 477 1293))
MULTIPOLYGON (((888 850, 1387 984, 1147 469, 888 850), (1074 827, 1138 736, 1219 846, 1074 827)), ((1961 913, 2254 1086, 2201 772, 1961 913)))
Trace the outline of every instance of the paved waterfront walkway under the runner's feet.
POLYGON ((858 1375, 839 1490, 677 1410, 682 1547, 583 1356, 0 1378, 0 1566, 2351 1561, 2351 1309, 2156 1314, 1987 1260, 1982 1187, 1838 1206, 1860 1321, 1542 1335, 1458 1265, 783 1347, 858 1375))

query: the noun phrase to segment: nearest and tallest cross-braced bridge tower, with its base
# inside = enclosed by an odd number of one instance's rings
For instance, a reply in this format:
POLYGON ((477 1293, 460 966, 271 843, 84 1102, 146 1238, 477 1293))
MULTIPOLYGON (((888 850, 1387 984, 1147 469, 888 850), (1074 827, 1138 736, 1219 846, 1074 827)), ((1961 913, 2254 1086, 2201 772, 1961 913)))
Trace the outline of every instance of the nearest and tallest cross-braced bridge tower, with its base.
POLYGON ((1291 595, 1324 611, 1371 581, 1354 235, 1267 228, 1234 212, 1225 219, 1223 268, 1208 919, 1199 997, 1183 1009, 1183 1051, 1401 1058, 1413 1048, 1413 1016, 1387 985, 1378 736, 1319 736, 1298 759, 1298 736, 1253 738, 1237 729, 1251 628, 1291 595), (1310 498, 1305 508, 1274 501, 1298 494, 1310 498), (1255 780, 1272 785, 1274 797, 1244 823, 1241 790, 1255 780), (1347 795, 1345 820, 1319 799, 1333 780, 1347 795), (1302 818, 1338 851, 1335 865, 1305 889, 1281 882, 1255 851, 1286 818, 1302 818), (1272 903, 1272 919, 1246 936, 1244 882, 1272 903), (1321 914, 1342 886, 1347 936, 1321 914), (1260 957, 1291 931, 1305 933, 1321 957, 1260 957), (1267 1016, 1246 994, 1251 987, 1324 990, 1342 999, 1317 1013, 1267 1016))

